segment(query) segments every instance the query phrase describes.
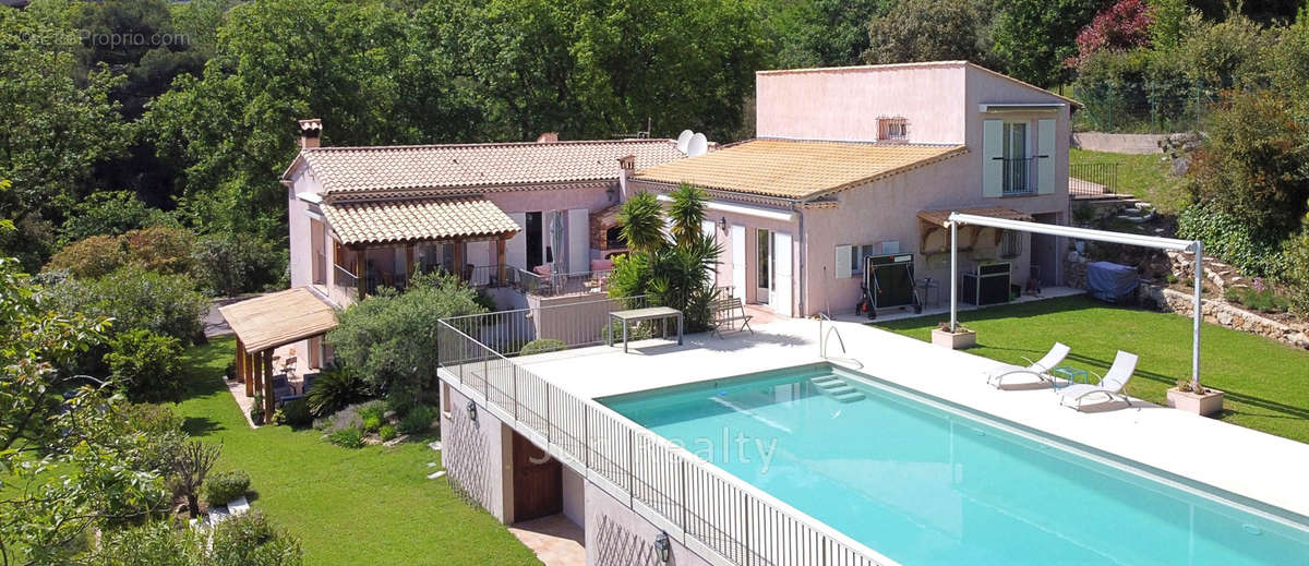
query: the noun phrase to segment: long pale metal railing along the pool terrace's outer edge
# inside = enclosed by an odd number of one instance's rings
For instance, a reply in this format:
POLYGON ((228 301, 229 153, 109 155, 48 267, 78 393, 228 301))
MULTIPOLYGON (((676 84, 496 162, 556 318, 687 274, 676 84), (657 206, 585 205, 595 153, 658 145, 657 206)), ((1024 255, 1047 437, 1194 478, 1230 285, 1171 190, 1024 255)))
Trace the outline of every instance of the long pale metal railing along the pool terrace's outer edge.
POLYGON ((552 453, 584 466, 606 491, 630 498, 634 508, 639 503, 657 514, 681 531, 670 533, 675 538, 698 541, 747 566, 881 563, 867 546, 518 366, 461 330, 496 326, 503 320, 483 324, 470 318, 445 320, 437 329, 445 377, 512 421, 520 434, 538 436, 552 453))

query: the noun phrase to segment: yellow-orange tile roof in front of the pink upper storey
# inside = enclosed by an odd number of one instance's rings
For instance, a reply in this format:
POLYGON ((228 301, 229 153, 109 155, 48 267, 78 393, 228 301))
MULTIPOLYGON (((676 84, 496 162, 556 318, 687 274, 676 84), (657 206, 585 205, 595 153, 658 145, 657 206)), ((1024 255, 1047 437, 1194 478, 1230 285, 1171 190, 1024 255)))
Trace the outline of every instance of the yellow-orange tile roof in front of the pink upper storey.
POLYGON ((804 200, 965 152, 963 145, 758 139, 637 170, 635 178, 804 200))

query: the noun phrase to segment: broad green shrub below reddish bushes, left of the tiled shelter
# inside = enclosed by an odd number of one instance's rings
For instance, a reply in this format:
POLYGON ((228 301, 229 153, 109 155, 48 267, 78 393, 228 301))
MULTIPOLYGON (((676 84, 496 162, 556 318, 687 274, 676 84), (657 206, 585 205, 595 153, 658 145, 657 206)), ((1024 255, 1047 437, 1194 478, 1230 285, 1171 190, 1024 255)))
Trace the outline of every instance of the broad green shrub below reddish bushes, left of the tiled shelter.
POLYGON ((117 331, 145 329, 190 343, 203 331, 209 301, 186 275, 127 266, 97 279, 68 278, 47 290, 60 312, 114 318, 117 331))

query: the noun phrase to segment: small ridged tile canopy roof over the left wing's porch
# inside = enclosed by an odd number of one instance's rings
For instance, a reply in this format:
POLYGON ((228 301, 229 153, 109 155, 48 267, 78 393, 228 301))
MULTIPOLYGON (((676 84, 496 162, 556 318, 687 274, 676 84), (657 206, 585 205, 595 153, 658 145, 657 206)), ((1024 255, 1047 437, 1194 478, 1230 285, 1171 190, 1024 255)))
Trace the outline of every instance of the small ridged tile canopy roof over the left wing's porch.
POLYGON ((322 211, 344 245, 499 236, 520 229, 484 198, 323 203, 322 211))

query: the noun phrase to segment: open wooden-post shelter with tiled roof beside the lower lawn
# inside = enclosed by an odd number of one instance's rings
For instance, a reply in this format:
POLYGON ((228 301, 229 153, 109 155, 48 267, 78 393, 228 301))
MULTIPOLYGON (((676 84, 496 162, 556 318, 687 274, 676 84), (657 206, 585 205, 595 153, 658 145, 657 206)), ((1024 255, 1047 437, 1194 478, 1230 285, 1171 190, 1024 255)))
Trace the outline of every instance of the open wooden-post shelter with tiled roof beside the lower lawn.
POLYGON ((336 311, 305 287, 220 307, 219 313, 237 335, 237 379, 245 383, 246 397, 259 392, 264 418, 272 417, 278 401, 272 351, 336 328, 336 311))

